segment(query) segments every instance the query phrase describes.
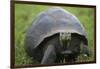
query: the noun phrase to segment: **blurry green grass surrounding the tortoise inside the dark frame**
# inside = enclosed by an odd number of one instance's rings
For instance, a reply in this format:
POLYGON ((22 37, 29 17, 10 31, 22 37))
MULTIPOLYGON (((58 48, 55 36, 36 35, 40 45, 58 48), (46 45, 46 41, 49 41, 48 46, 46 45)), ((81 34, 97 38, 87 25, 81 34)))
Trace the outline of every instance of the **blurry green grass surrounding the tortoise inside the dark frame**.
MULTIPOLYGON (((24 38, 26 30, 31 26, 33 19, 38 13, 44 11, 51 6, 43 5, 15 5, 15 65, 35 64, 35 60, 29 57, 24 49, 24 38)), ((77 8, 63 7, 67 11, 74 14, 85 27, 88 36, 89 48, 92 51, 92 56, 87 61, 94 59, 94 9, 93 8, 77 8)), ((79 61, 83 61, 80 56, 79 61)))

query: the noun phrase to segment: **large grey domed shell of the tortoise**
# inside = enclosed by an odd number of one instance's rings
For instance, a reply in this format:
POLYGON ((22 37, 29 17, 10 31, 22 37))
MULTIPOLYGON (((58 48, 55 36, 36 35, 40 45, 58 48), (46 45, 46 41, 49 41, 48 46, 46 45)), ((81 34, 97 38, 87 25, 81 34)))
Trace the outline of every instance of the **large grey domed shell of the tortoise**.
POLYGON ((83 26, 74 15, 62 8, 53 7, 35 18, 26 33, 25 44, 34 49, 45 38, 60 32, 77 33, 87 39, 83 26))

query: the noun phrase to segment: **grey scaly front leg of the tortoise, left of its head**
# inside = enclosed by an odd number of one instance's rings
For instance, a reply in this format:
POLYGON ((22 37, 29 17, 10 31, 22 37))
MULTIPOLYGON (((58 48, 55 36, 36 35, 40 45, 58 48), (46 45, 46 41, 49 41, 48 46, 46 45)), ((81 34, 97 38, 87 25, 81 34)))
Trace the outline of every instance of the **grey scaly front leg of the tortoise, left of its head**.
POLYGON ((55 62, 56 59, 56 52, 54 45, 48 45, 44 52, 43 59, 41 61, 41 64, 52 64, 55 62))

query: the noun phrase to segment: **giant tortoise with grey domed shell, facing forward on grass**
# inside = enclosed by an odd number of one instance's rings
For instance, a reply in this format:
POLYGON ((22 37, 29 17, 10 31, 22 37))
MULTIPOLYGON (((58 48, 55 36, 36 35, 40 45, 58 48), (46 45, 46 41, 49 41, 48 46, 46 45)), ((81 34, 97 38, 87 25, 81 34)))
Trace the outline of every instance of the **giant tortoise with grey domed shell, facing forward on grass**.
POLYGON ((25 49, 40 64, 75 62, 89 55, 88 40, 80 21, 60 7, 41 12, 26 32, 25 49))

